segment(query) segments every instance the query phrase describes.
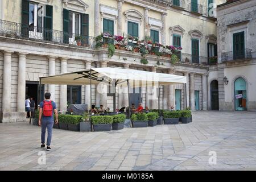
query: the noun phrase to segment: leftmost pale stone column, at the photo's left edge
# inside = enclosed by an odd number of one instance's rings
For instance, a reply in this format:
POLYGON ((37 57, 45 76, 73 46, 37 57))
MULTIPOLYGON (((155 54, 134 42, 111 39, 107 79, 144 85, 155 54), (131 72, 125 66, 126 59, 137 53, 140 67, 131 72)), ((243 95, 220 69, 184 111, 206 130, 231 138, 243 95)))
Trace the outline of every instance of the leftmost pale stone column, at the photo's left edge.
MULTIPOLYGON (((2 111, 11 111, 11 51, 3 51, 3 94, 2 94, 2 111)), ((23 110, 25 100, 23 98, 23 110)))

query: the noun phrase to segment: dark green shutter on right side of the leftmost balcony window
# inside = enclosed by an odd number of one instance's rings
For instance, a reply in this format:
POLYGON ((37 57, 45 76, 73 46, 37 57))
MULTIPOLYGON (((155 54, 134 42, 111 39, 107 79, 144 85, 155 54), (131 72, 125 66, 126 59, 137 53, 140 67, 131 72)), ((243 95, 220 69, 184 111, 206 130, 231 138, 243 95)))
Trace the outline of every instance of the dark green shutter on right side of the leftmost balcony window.
POLYGON ((52 6, 46 5, 44 16, 44 40, 52 41, 52 6))

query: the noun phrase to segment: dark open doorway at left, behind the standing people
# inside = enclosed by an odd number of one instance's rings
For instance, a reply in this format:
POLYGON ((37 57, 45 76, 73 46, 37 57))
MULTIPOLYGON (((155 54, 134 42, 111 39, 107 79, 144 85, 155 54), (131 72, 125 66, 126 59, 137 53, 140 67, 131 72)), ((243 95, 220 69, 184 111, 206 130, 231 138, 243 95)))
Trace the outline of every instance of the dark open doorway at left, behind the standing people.
MULTIPOLYGON (((38 109, 40 101, 44 100, 44 85, 41 85, 41 94, 39 94, 39 82, 38 81, 26 81, 26 97, 32 97, 35 101, 35 108, 38 109), (39 96, 41 98, 39 98, 39 96)), ((25 98, 24 98, 25 103, 25 98)))

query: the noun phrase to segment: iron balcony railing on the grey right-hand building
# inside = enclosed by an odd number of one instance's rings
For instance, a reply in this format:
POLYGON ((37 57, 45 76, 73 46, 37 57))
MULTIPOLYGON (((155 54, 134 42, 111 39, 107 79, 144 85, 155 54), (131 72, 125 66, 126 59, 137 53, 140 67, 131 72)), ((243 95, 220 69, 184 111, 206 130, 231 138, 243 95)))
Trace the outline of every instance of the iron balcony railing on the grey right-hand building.
POLYGON ((229 51, 221 53, 221 61, 234 61, 234 60, 245 60, 256 58, 255 52, 252 52, 252 49, 245 49, 242 51, 229 51))

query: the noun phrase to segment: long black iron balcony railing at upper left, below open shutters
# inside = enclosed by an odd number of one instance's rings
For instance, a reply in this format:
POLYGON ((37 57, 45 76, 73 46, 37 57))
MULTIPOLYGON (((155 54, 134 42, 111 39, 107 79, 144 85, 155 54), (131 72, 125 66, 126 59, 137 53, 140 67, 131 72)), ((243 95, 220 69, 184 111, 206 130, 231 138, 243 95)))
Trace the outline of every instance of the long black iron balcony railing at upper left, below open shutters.
POLYGON ((21 23, 9 22, 6 20, 0 20, 0 35, 13 38, 84 46, 89 48, 94 48, 95 46, 94 37, 92 36, 69 34, 68 32, 27 26, 21 23))

